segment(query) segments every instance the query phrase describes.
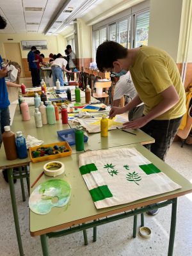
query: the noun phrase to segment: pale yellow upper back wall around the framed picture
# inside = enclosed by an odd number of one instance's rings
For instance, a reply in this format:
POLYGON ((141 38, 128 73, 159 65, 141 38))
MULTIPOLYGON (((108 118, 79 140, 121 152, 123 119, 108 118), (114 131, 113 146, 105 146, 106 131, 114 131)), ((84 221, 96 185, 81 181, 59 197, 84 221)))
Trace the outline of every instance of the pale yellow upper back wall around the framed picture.
MULTIPOLYGON (((5 42, 14 42, 14 43, 20 43, 22 40, 47 40, 47 50, 42 50, 41 52, 46 57, 49 57, 49 53, 57 54, 60 52, 61 54, 65 53, 65 47, 66 47, 66 40, 63 38, 63 36, 45 36, 45 35, 26 35, 26 34, 1 34, 0 36, 0 54, 3 58, 5 58, 5 52, 4 52, 4 43, 5 42), (8 40, 8 38, 13 38, 12 41, 8 40)), ((20 51, 21 51, 21 57, 27 58, 28 51, 22 51, 22 47, 20 44, 20 51)))

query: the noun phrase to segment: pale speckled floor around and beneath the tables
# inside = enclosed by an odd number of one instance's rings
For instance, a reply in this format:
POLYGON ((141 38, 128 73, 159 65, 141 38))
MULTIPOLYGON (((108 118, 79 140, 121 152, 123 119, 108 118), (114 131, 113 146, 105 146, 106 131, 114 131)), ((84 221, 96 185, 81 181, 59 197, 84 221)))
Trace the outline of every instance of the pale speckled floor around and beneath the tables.
MULTIPOLYGON (((166 163, 184 175, 192 182, 192 146, 173 143, 168 153, 166 163)), ((8 184, 4 182, 0 173, 0 255, 19 255, 15 227, 13 223, 12 206, 8 184)), ((40 238, 29 234, 28 198, 22 202, 20 182, 15 184, 17 205, 19 211, 20 229, 24 253, 27 256, 42 255, 40 238)), ((27 189, 26 189, 27 191, 27 189)), ((192 195, 179 198, 177 231, 175 236, 175 256, 192 255, 192 195)), ((152 230, 150 239, 143 239, 138 235, 132 238, 132 218, 116 221, 97 228, 97 242, 92 243, 92 230, 88 230, 88 246, 83 244, 83 232, 57 239, 49 239, 50 255, 52 256, 166 256, 170 231, 171 207, 165 207, 156 216, 145 215, 145 225, 152 230)))

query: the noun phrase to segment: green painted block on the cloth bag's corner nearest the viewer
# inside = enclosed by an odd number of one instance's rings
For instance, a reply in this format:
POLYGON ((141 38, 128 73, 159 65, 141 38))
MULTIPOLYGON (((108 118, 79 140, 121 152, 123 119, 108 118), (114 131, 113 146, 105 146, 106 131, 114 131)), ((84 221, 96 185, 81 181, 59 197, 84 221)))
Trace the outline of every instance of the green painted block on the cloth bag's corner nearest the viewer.
POLYGON ((97 202, 113 196, 107 185, 91 189, 90 194, 92 196, 93 202, 97 202))

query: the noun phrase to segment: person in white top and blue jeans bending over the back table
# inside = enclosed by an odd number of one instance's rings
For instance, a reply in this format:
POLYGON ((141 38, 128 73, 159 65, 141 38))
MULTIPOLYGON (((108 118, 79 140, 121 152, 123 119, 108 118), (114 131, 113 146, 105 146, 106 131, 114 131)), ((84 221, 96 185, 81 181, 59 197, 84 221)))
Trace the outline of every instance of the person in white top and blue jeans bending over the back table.
POLYGON ((63 86, 63 70, 68 73, 71 72, 66 69, 66 66, 67 60, 65 60, 63 56, 60 53, 58 53, 56 60, 51 62, 51 72, 54 81, 54 86, 56 86, 57 79, 59 79, 61 86, 63 86))

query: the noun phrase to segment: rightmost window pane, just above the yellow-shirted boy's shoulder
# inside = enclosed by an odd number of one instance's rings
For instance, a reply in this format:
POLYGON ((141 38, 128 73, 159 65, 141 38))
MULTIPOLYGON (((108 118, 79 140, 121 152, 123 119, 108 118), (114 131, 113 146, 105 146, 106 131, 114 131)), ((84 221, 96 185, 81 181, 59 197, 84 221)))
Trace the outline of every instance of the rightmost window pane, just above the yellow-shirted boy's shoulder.
POLYGON ((135 15, 134 47, 148 45, 149 12, 135 15))

